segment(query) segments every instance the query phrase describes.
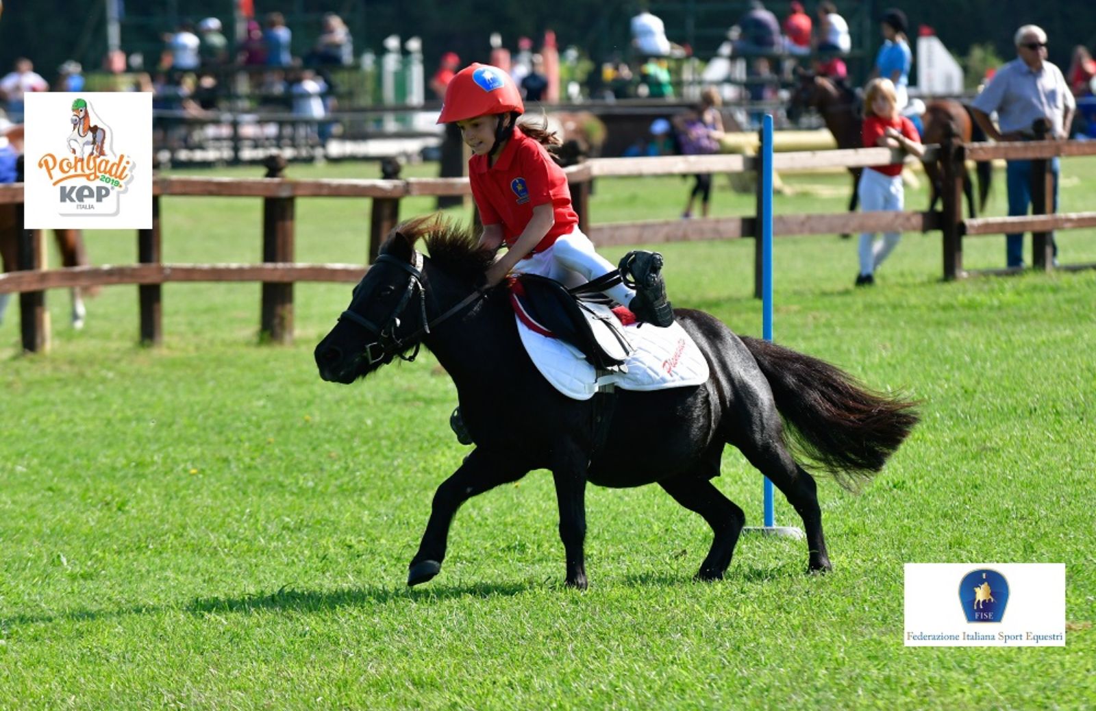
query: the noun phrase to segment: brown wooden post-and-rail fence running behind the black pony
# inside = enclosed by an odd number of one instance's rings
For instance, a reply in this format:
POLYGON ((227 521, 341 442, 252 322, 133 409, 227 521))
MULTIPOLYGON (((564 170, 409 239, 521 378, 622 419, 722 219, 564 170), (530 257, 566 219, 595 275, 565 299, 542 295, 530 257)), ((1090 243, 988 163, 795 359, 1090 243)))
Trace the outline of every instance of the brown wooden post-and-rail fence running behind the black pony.
MULTIPOLYGON (((1096 141, 1030 141, 1005 144, 946 142, 926 147, 926 158, 941 163, 944 175, 943 209, 939 211, 826 213, 777 215, 773 219, 776 237, 833 234, 837 232, 928 231, 943 233, 944 278, 967 276, 962 263, 964 237, 1032 232, 1036 268, 1052 270, 1050 239, 1052 230, 1096 227, 1096 213, 1053 214, 1050 160, 1057 156, 1096 156, 1096 141), (963 219, 962 180, 964 161, 993 159, 1032 160, 1034 214, 1025 217, 963 219)), ((854 150, 796 151, 776 153, 774 169, 863 168, 901 160, 887 148, 854 150)), ((582 230, 597 245, 653 244, 660 242, 756 238, 757 218, 716 217, 698 219, 648 220, 592 225, 590 184, 597 177, 678 175, 693 173, 734 173, 758 170, 758 158, 739 154, 669 156, 658 158, 592 159, 567 169, 571 195, 582 230)), ((138 264, 77 266, 45 270, 41 231, 22 230, 19 234, 19 271, 0 275, 0 294, 20 295, 23 349, 43 351, 48 344, 44 290, 60 287, 99 285, 137 285, 140 310, 140 340, 149 345, 161 343, 161 285, 168 282, 261 282, 262 340, 289 343, 293 340, 293 285, 296 282, 356 283, 372 263, 384 238, 399 221, 400 199, 412 195, 467 195, 467 179, 406 180, 311 180, 281 177, 281 165, 269 165, 267 177, 165 177, 153 179, 152 227, 138 230, 138 264), (263 199, 263 262, 261 264, 164 264, 161 261, 161 214, 163 196, 232 196, 263 199), (365 264, 301 264, 295 261, 295 200, 307 197, 369 198, 372 211, 365 251, 365 264)), ((758 200, 761 200, 758 196, 758 200)), ((21 183, 0 185, 0 205, 21 205, 21 183)), ((758 203, 760 207, 760 203, 758 203)), ((22 209, 18 227, 22 227, 22 209)), ((758 209, 758 214, 760 214, 758 209)), ((365 237, 365 236, 363 236, 365 237)), ((761 240, 755 240, 755 295, 761 288, 761 240)), ((1096 264, 1074 264, 1061 268, 1092 268, 1096 264)), ((992 270, 983 273, 1009 273, 992 270)))

